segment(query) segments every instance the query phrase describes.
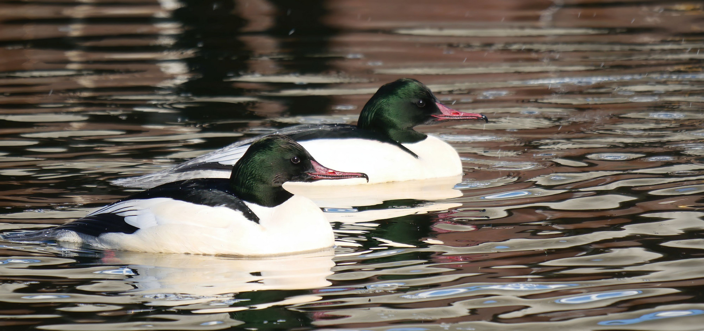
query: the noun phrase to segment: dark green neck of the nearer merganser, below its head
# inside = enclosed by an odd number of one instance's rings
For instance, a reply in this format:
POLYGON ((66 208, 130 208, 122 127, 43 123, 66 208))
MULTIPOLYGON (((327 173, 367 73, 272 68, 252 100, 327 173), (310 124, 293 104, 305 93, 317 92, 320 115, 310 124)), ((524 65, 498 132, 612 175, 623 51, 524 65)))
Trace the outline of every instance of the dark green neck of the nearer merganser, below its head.
POLYGON ((238 164, 241 162, 237 162, 232 168, 230 185, 241 200, 264 207, 276 207, 294 196, 284 190, 281 184, 275 183, 275 179, 267 178, 267 176, 246 167, 238 167, 238 164))

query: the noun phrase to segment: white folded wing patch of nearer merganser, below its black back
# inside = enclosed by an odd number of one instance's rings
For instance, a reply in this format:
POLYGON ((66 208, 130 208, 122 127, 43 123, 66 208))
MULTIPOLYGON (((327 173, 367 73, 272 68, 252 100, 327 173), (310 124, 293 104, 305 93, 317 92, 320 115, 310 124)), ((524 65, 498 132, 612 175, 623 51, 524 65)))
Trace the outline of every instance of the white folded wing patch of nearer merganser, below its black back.
POLYGON ((224 206, 196 205, 168 197, 122 201, 88 216, 107 213, 122 216, 125 218, 125 223, 141 229, 165 224, 227 228, 238 222, 252 223, 238 210, 224 206))

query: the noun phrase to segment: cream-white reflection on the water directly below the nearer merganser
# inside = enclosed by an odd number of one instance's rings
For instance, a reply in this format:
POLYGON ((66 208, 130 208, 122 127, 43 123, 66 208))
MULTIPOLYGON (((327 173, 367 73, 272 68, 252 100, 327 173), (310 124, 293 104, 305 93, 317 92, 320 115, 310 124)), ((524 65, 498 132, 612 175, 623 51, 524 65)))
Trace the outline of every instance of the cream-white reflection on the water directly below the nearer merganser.
MULTIPOLYGON (((333 257, 334 249, 257 259, 106 251, 97 263, 120 266, 113 273, 124 274, 125 279, 105 280, 103 286, 134 287, 119 294, 134 297, 135 301, 160 306, 201 304, 201 309, 223 309, 238 306, 235 296, 242 292, 327 287, 331 285, 326 278, 332 275, 333 257)), ((243 301, 241 305, 251 304, 243 301)))

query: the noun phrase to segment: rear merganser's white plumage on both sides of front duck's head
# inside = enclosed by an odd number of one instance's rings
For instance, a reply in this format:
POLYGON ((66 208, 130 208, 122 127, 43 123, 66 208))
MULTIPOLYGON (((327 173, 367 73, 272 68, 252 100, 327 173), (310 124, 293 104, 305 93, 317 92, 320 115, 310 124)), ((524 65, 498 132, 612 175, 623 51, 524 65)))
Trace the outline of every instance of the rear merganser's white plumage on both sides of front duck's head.
MULTIPOLYGON (((433 179, 462 174, 462 164, 457 152, 451 145, 433 136, 428 136, 417 143, 403 144, 418 155, 417 158, 405 150, 390 143, 363 139, 314 139, 299 142, 315 160, 325 167, 349 172, 363 172, 369 176, 369 182, 386 183, 389 181, 410 181, 414 179, 433 179)), ((222 148, 208 155, 196 157, 179 167, 197 166, 207 162, 232 165, 244 155, 248 145, 234 148, 222 148)), ((159 171, 137 178, 119 179, 114 183, 120 186, 152 188, 163 183, 194 178, 229 178, 229 169, 207 169, 172 172, 173 169, 159 171)), ((317 181, 313 185, 358 185, 365 184, 365 179, 336 179, 317 181)))

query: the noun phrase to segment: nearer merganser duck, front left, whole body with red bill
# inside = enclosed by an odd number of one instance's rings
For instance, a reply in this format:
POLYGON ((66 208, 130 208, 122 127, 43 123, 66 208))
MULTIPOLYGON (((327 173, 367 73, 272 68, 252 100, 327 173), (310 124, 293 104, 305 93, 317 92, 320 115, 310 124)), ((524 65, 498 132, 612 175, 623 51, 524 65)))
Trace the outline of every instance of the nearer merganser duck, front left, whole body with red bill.
POLYGON ((252 143, 230 179, 189 179, 127 197, 56 228, 6 235, 57 239, 101 249, 264 256, 325 249, 332 228, 312 201, 282 188, 287 181, 366 178, 328 169, 287 136, 252 143))

